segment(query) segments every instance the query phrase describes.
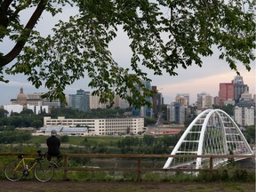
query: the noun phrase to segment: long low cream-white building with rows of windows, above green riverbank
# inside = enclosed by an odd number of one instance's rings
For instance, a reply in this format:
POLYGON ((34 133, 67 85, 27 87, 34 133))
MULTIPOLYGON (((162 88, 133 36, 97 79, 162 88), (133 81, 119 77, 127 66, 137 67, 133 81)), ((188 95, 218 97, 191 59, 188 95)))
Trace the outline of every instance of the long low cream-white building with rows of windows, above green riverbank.
POLYGON ((57 119, 52 119, 45 116, 44 127, 52 126, 83 126, 87 127, 92 135, 138 134, 144 131, 144 118, 66 119, 64 116, 59 116, 57 119))

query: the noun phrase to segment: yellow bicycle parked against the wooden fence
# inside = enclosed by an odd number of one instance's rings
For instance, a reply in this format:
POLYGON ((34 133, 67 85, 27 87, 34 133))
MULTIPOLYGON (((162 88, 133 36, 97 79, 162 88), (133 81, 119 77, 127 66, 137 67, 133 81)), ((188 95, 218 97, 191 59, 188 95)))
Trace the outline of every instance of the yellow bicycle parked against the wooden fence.
POLYGON ((52 179, 54 174, 54 165, 51 162, 45 161, 45 154, 41 154, 41 151, 37 151, 38 156, 24 157, 24 155, 18 156, 20 160, 15 160, 7 163, 4 166, 4 176, 11 181, 18 181, 23 176, 28 177, 29 172, 34 169, 34 175, 36 180, 41 182, 47 182, 52 179), (27 161, 33 161, 31 167, 28 167, 27 161))

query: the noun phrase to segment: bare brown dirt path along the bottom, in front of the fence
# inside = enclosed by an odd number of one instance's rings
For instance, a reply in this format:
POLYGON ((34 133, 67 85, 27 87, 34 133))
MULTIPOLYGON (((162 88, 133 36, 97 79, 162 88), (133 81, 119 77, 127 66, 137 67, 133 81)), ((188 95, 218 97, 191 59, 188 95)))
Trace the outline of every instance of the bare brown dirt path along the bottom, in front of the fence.
POLYGON ((52 191, 89 191, 89 192, 254 192, 255 183, 172 183, 172 182, 86 182, 86 181, 50 181, 20 180, 11 182, 0 180, 1 192, 52 192, 52 191))

